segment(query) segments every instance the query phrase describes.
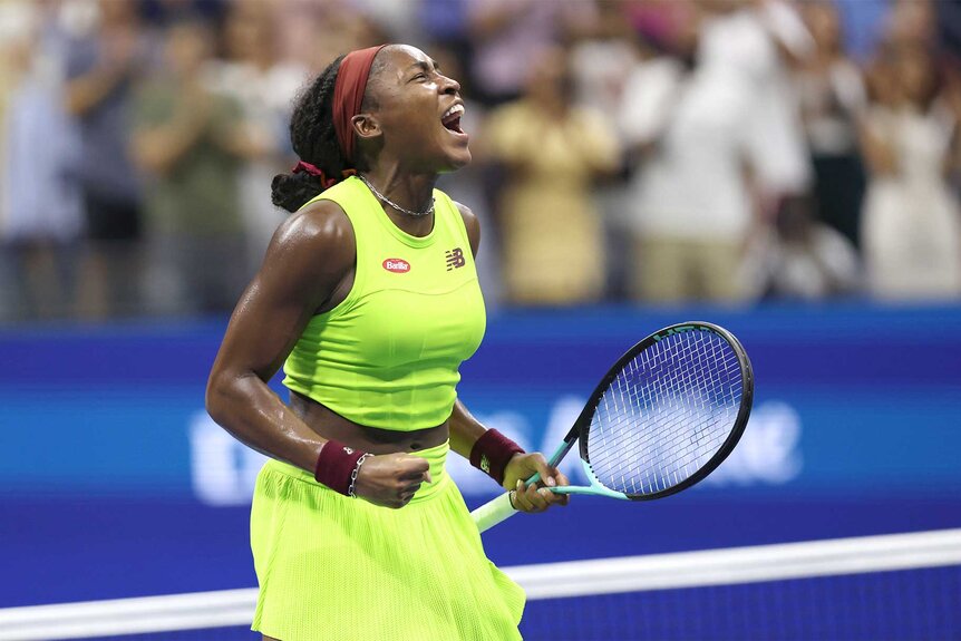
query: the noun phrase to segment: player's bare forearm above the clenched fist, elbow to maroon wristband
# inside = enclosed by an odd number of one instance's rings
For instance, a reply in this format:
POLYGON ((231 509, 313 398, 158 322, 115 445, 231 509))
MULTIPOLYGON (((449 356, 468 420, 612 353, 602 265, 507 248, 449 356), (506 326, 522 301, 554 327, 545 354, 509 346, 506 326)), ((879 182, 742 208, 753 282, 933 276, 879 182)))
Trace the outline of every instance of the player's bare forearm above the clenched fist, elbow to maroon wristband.
POLYGON ((212 377, 206 407, 211 417, 241 443, 313 474, 327 441, 254 373, 212 377))

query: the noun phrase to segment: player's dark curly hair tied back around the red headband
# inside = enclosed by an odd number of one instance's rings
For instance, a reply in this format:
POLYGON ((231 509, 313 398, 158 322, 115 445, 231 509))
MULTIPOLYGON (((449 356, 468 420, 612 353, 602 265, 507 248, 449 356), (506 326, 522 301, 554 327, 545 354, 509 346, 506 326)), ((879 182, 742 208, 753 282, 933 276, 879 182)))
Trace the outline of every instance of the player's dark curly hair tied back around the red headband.
MULTIPOLYGON (((301 89, 290 117, 290 142, 294 153, 301 161, 321 169, 324 175, 338 177, 346 169, 352 168, 343 156, 333 127, 333 88, 342 60, 343 56, 339 56, 312 82, 301 89)), ((369 77, 372 79, 384 67, 385 62, 378 56, 369 77)), ((361 109, 376 108, 376 101, 365 91, 361 109)), ((363 168, 363 158, 358 157, 356 165, 357 168, 363 168)), ((295 212, 323 188, 320 177, 307 172, 278 174, 271 183, 271 201, 279 207, 295 212)))

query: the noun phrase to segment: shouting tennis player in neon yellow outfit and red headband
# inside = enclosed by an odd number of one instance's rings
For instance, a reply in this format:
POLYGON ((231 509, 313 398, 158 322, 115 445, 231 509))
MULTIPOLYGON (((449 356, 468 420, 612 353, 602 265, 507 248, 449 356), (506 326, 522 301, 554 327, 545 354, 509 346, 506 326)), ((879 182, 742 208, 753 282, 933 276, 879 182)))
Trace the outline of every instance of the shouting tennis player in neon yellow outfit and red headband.
POLYGON ((469 457, 524 512, 565 499, 522 479, 566 478, 456 399, 485 323, 477 221, 434 190, 470 161, 462 110, 459 85, 397 45, 336 60, 294 109, 301 162, 273 198, 297 213, 207 387, 211 416, 273 458, 251 514, 264 639, 518 638, 523 592, 484 555, 444 459, 469 457), (284 360, 289 405, 266 385, 284 360))

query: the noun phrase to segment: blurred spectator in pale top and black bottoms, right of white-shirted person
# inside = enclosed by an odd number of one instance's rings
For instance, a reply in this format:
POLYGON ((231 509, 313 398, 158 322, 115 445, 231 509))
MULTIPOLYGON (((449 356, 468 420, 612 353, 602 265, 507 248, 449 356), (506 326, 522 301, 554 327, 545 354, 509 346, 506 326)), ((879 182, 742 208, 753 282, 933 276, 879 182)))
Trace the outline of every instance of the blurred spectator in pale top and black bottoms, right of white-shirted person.
POLYGON ((816 43, 797 74, 802 116, 814 167, 821 220, 860 245, 865 175, 858 122, 867 105, 858 68, 844 54, 837 9, 831 2, 804 4, 816 43))

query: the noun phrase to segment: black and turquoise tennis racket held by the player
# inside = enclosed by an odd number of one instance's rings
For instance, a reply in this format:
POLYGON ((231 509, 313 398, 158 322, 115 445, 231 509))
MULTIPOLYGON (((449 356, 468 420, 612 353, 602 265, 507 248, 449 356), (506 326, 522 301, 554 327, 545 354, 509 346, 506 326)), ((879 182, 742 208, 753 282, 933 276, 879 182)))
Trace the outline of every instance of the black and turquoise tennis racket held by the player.
MULTIPOLYGON (((550 458, 556 466, 579 443, 590 485, 550 489, 628 501, 687 489, 734 450, 753 398, 750 360, 734 334, 708 322, 667 327, 614 363, 550 458)), ((484 532, 516 513, 507 493, 472 516, 484 532)))

